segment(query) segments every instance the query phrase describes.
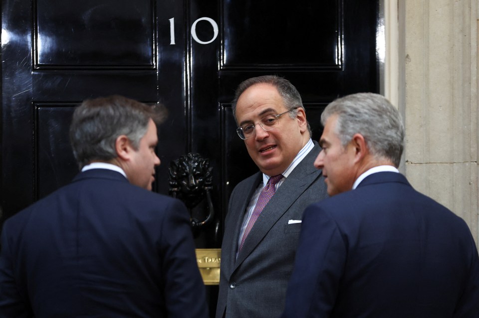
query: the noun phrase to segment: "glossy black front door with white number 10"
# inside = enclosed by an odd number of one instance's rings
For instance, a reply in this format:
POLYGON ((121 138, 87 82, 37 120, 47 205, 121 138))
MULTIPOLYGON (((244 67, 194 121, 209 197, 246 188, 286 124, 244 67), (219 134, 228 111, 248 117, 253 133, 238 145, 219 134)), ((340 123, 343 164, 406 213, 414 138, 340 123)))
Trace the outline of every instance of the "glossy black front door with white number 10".
MULTIPOLYGON (((68 141, 74 107, 120 94, 169 109, 154 191, 168 194, 168 167, 181 155, 210 160, 221 234, 231 191, 257 171, 235 132, 236 86, 284 76, 318 139, 324 106, 379 90, 378 2, 2 0, 2 220, 78 172, 68 141)), ((198 247, 219 247, 216 230, 198 247)))

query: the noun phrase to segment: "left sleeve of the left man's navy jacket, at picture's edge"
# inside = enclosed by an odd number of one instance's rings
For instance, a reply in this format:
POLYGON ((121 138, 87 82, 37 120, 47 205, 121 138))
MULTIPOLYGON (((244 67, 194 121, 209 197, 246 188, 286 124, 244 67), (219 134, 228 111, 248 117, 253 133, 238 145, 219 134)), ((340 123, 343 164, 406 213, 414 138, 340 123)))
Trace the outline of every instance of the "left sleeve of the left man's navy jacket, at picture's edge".
POLYGON ((0 245, 0 317, 32 317, 28 300, 22 297, 15 281, 6 225, 3 226, 0 245))

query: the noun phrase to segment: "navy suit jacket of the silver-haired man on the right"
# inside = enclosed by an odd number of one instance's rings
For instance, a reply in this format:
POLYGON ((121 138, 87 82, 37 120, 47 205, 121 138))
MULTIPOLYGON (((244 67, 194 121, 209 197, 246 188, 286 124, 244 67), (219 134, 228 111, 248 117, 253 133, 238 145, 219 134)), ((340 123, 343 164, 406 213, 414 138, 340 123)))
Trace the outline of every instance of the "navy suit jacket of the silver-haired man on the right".
POLYGON ((309 206, 284 318, 479 317, 466 222, 394 172, 309 206))

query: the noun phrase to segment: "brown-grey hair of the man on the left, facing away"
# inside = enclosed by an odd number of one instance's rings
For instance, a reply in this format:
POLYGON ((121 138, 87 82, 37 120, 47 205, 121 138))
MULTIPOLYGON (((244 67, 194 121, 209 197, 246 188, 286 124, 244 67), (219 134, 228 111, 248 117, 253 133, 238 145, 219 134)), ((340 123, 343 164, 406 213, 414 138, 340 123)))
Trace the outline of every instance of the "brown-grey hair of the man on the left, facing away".
POLYGON ((115 142, 121 135, 137 150, 150 119, 159 124, 165 117, 161 105, 148 106, 119 95, 83 101, 70 125, 70 143, 80 169, 92 161, 116 158, 115 142))

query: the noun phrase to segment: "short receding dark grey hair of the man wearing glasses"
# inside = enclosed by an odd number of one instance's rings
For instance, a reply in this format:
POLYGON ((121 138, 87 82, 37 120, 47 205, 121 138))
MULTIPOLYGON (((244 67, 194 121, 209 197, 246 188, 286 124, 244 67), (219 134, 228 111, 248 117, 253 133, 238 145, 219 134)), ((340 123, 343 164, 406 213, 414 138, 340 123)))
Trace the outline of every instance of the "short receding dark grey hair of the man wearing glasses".
MULTIPOLYGON (((281 99, 283 100, 283 104, 286 107, 287 110, 289 110, 289 116, 291 118, 296 118, 296 115, 298 113, 297 108, 301 107, 304 109, 303 106, 303 101, 301 100, 301 95, 299 95, 298 90, 294 87, 294 85, 291 84, 288 80, 285 78, 276 76, 276 75, 264 75, 264 76, 258 76, 258 77, 252 77, 249 78, 243 82, 240 83, 236 90, 235 94, 235 99, 233 100, 232 103, 232 110, 233 110, 233 115, 236 118, 236 106, 238 104, 238 99, 240 98, 240 95, 243 94, 244 91, 246 91, 248 88, 255 84, 271 84, 276 88, 276 90, 279 93, 279 96, 281 96, 281 99)), ((306 112, 306 109, 304 109, 304 112, 306 112)), ((311 133, 311 127, 308 124, 308 131, 309 131, 309 136, 312 135, 311 133)))

